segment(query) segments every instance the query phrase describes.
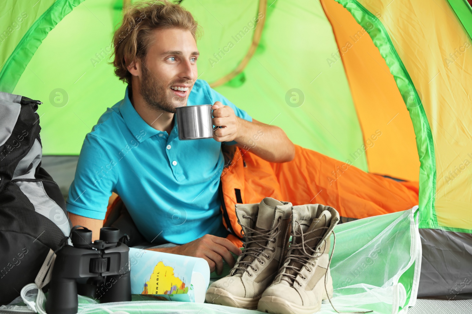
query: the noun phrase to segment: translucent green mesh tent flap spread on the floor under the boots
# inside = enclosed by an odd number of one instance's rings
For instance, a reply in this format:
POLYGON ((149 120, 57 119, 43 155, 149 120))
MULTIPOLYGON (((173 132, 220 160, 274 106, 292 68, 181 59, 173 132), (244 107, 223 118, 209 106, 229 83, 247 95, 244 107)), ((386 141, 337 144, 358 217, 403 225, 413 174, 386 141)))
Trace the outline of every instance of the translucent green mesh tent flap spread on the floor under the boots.
MULTIPOLYGON (((415 219, 417 208, 336 226, 336 247, 331 261, 334 295, 331 300, 337 310, 372 310, 373 313, 390 314, 414 305, 421 262, 421 243, 415 219)), ((334 240, 331 235, 331 250, 334 240)), ((25 310, 23 302, 29 302, 30 308, 35 307, 38 313, 44 313, 45 299, 34 287, 34 284, 29 289, 25 287, 23 298, 18 297, 12 302, 10 309, 17 306, 16 309, 25 310)), ((257 313, 206 303, 157 301, 141 295, 133 295, 132 300, 99 304, 91 298, 79 296, 78 313, 257 313)), ((1 306, 0 311, 7 307, 1 306)), ((323 301, 319 313, 333 312, 329 302, 323 301)))

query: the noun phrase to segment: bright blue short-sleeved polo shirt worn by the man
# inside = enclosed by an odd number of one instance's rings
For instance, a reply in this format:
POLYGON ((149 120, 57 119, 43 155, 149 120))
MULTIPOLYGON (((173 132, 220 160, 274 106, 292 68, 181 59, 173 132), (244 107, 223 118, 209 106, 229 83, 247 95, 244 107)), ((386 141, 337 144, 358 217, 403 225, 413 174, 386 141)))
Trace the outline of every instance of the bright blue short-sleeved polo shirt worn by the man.
MULTIPOLYGON (((221 143, 213 138, 181 141, 177 123, 170 135, 153 129, 136 112, 128 89, 85 136, 67 210, 104 219, 115 192, 149 242, 184 244, 207 233, 226 236, 218 194, 224 164, 221 143)), ((196 80, 187 105, 215 101, 252 121, 206 81, 196 80)))

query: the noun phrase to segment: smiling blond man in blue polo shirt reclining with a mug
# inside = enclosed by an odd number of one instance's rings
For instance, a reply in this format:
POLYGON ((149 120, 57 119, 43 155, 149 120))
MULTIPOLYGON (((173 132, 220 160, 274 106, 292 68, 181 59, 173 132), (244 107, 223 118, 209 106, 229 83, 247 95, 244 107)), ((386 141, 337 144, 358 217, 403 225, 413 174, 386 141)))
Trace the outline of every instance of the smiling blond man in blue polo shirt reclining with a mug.
POLYGON ((114 36, 113 62, 128 84, 125 98, 86 135, 67 210, 72 224, 96 239, 110 194, 118 193, 149 242, 180 244, 153 250, 204 258, 220 273, 222 258, 233 266, 230 252, 241 253, 226 239, 219 210, 221 143, 253 146, 273 162, 291 161, 295 146, 282 129, 252 119, 197 80, 197 28, 188 11, 167 1, 128 9, 114 36), (204 104, 212 104, 213 124, 222 128, 213 138, 180 141, 176 107, 204 104))

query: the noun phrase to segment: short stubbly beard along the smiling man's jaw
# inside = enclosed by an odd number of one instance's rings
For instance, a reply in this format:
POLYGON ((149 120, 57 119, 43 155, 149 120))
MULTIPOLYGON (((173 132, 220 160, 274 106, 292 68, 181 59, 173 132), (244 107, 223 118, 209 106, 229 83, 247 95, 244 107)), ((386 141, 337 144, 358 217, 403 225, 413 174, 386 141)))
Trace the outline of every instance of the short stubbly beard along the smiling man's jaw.
MULTIPOLYGON (((143 64, 144 65, 144 64, 143 64)), ((147 105, 152 109, 162 110, 168 113, 175 113, 176 108, 167 99, 167 87, 162 86, 161 82, 144 65, 142 68, 141 95, 147 105)), ((176 102, 184 100, 177 97, 176 102)), ((174 98, 173 98, 174 99, 174 98)))

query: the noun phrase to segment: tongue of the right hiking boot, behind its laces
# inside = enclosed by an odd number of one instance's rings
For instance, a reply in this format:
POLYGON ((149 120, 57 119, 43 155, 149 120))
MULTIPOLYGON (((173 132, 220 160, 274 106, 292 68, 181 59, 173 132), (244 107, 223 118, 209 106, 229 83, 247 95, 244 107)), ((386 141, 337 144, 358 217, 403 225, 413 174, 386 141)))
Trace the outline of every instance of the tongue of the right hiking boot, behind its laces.
MULTIPOLYGON (((302 230, 300 230, 300 227, 297 228, 297 230, 296 230, 297 235, 294 237, 295 238, 295 244, 299 244, 299 243, 302 242, 302 237, 299 234, 300 234, 300 232, 303 232, 303 240, 305 241, 305 245, 304 245, 305 251, 308 254, 312 255, 313 251, 308 249, 308 248, 311 248, 311 249, 314 250, 315 247, 318 245, 318 242, 320 242, 320 238, 318 238, 318 237, 322 237, 328 229, 322 228, 322 229, 316 230, 312 233, 309 233, 309 232, 313 231, 315 229, 318 229, 320 227, 329 227, 330 221, 331 221, 331 213, 328 210, 324 210, 323 212, 321 212, 319 218, 313 218, 312 223, 310 224, 310 226, 308 226, 308 228, 306 228, 306 225, 304 225, 304 226, 300 225, 302 230), (306 233, 308 233, 308 234, 306 234, 306 233)), ((293 255, 304 255, 303 250, 299 250, 299 249, 293 250, 292 254, 293 255)), ((297 269, 301 269, 302 266, 303 266, 303 263, 295 261, 295 260, 291 260, 290 263, 288 263, 288 265, 289 266, 294 266, 297 269)), ((297 275, 297 273, 295 272, 295 270, 293 268, 287 268, 285 273, 286 274, 293 274, 295 276, 297 275)), ((284 280, 284 281, 281 281, 281 282, 286 282, 286 281, 284 280)), ((287 282, 287 285, 289 285, 288 282, 287 282)))

